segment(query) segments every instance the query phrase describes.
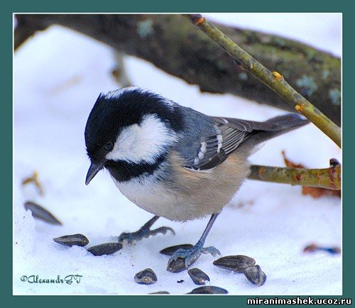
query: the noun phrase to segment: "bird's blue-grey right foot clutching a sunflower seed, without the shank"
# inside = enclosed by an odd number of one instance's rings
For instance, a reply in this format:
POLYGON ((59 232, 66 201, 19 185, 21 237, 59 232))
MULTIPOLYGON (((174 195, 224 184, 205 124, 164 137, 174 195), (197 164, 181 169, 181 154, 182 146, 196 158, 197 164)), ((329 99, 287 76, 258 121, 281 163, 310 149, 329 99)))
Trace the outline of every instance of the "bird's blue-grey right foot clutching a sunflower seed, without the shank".
POLYGON ((192 248, 180 248, 175 251, 168 261, 168 268, 166 270, 171 273, 179 273, 182 270, 186 270, 192 263, 200 258, 202 253, 211 253, 214 257, 221 255, 217 248, 213 246, 203 247, 203 243, 197 242, 192 248))

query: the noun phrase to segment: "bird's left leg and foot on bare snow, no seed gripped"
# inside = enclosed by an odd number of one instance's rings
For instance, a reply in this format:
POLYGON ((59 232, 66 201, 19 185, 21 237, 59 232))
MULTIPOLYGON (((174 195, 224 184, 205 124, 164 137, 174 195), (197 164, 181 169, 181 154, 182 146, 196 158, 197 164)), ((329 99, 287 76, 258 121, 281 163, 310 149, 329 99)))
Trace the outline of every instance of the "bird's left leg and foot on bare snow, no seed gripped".
POLYGON ((121 233, 119 236, 119 243, 124 243, 127 242, 129 244, 134 243, 136 241, 140 241, 143 238, 148 238, 149 236, 155 236, 158 233, 167 233, 168 231, 171 231, 175 235, 175 231, 171 229, 168 226, 160 226, 157 229, 151 230, 151 226, 157 221, 159 216, 154 216, 152 219, 146 222, 146 224, 143 224, 141 229, 139 229, 136 232, 131 232, 131 233, 121 233))

